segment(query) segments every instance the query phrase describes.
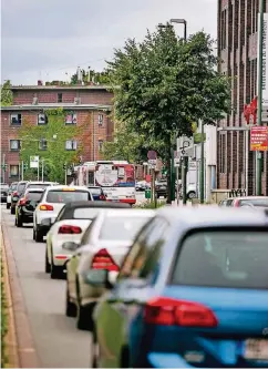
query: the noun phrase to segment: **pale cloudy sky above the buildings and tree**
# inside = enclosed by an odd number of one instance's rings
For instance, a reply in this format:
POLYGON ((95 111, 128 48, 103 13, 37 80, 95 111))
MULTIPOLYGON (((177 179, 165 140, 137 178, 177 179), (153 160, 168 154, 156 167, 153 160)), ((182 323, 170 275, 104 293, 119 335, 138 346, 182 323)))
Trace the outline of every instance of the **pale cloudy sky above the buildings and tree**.
POLYGON ((217 37, 217 0, 2 0, 1 16, 1 81, 13 85, 101 71, 126 39, 171 18, 186 19, 188 34, 217 37))

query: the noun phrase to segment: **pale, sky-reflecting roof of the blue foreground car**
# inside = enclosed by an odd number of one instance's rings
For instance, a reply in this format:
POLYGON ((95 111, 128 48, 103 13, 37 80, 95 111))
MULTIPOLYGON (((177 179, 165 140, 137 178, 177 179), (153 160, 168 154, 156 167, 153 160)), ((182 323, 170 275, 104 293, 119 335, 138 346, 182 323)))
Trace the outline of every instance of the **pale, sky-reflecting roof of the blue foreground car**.
POLYGON ((167 218, 171 224, 182 224, 186 227, 268 225, 268 217, 264 211, 233 207, 163 207, 157 214, 167 218))

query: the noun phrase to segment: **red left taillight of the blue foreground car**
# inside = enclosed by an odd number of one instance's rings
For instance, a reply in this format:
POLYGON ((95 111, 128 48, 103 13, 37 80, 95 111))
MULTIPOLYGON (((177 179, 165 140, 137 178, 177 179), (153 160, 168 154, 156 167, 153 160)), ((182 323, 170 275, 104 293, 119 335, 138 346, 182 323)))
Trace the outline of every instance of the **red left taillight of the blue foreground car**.
POLYGON ((214 312, 206 306, 185 300, 158 297, 145 306, 144 319, 147 324, 183 327, 216 327, 214 312))

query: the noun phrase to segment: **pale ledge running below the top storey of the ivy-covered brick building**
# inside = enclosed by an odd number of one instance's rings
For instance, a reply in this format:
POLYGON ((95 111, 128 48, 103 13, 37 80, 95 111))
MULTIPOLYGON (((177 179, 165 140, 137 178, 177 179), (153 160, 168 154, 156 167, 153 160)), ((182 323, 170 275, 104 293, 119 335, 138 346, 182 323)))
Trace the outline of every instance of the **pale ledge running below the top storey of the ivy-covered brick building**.
POLYGON ((20 105, 10 105, 1 106, 1 110, 4 112, 10 111, 40 111, 47 109, 58 109, 62 107, 63 110, 100 110, 100 111, 111 111, 112 105, 102 105, 102 104, 75 104, 75 103, 41 103, 41 104, 20 104, 20 105))

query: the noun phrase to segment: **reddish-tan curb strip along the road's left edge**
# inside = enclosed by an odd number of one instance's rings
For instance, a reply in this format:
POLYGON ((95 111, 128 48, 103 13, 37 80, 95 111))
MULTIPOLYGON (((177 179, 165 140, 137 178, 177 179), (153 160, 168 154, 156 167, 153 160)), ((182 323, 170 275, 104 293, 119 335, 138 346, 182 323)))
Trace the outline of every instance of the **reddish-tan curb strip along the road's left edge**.
MULTIPOLYGON (((16 260, 12 252, 12 247, 9 240, 8 229, 6 224, 2 222, 2 239, 3 249, 7 260, 7 277, 10 289, 10 310, 13 316, 13 330, 16 337, 16 348, 18 357, 18 367, 14 368, 42 368, 40 359, 38 357, 30 322, 28 319, 27 308, 21 290, 21 285, 18 276, 16 260)), ((12 322, 11 322, 12 324, 12 322)))

